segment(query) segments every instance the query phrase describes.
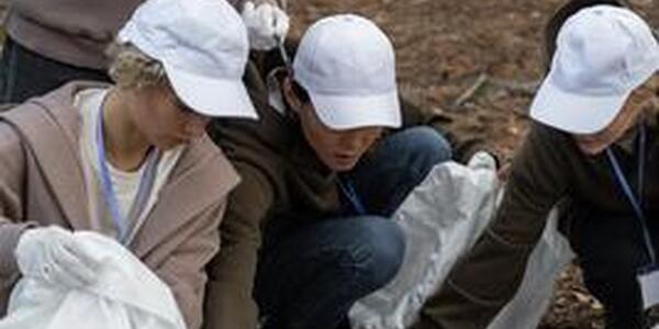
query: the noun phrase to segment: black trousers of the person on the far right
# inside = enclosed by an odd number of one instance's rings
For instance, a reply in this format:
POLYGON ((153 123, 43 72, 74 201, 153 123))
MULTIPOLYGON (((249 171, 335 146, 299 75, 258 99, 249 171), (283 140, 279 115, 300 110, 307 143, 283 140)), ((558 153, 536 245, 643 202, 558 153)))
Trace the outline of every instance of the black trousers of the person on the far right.
MULTIPOLYGON (((659 252, 659 223, 648 220, 659 252)), ((570 243, 579 257, 588 290, 604 305, 607 329, 644 327, 637 270, 648 262, 639 219, 629 217, 578 216, 571 225, 570 243)))

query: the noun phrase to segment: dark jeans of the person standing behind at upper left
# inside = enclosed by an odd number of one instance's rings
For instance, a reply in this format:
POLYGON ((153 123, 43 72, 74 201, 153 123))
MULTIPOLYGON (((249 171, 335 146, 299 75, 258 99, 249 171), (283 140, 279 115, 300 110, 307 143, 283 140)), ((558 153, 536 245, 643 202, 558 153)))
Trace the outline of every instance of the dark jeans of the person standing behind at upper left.
POLYGON ((0 103, 22 103, 71 80, 110 81, 102 70, 49 59, 7 38, 0 59, 0 103))

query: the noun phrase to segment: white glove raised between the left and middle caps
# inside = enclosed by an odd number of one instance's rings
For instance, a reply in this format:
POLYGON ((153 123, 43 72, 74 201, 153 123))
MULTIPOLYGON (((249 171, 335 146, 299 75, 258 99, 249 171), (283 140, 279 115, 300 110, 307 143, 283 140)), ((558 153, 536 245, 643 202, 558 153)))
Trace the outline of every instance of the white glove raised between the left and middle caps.
POLYGON ((289 16, 270 3, 256 7, 248 1, 243 8, 243 21, 249 34, 249 46, 255 50, 270 50, 283 41, 289 30, 289 16))

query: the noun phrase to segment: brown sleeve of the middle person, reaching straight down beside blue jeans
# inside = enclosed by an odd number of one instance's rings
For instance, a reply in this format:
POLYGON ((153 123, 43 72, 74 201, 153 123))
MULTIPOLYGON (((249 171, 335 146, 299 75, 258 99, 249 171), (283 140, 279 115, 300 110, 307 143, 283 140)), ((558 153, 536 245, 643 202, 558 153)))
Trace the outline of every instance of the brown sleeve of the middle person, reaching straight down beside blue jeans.
POLYGON ((270 182, 261 171, 234 163, 242 181, 232 192, 221 226, 222 248, 208 268, 205 329, 252 329, 257 307, 252 298, 261 222, 273 202, 270 182))

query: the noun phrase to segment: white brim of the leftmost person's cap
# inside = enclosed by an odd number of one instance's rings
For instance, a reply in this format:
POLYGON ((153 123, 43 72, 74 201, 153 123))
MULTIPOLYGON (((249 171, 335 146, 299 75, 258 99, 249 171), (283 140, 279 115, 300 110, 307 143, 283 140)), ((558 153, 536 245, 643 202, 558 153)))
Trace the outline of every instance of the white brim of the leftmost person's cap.
POLYGON ((247 89, 241 79, 211 79, 190 73, 163 60, 177 97, 205 116, 258 118, 247 89))

